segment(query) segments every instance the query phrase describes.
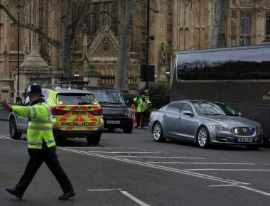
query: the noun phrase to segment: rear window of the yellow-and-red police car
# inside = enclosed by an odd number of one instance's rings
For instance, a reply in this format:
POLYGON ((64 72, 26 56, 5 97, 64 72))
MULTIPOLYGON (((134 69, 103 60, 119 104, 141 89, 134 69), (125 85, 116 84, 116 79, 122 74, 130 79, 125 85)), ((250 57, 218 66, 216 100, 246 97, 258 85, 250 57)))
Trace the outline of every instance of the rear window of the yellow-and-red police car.
POLYGON ((97 104, 97 100, 92 94, 58 94, 55 104, 83 105, 97 104))

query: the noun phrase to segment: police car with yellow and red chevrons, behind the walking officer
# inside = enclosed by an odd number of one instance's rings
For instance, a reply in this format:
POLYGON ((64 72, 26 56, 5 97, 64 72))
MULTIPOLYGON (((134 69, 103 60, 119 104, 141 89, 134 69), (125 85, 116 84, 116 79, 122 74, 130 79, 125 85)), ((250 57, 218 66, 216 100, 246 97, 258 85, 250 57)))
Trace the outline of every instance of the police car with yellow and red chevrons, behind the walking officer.
MULTIPOLYGON (((104 121, 102 108, 92 92, 72 87, 43 87, 43 98, 53 115, 53 134, 58 138, 83 137, 90 144, 97 144, 102 135, 104 121)), ((30 106, 29 98, 23 106, 30 106)), ((9 133, 11 139, 26 134, 28 118, 11 112, 9 133)))

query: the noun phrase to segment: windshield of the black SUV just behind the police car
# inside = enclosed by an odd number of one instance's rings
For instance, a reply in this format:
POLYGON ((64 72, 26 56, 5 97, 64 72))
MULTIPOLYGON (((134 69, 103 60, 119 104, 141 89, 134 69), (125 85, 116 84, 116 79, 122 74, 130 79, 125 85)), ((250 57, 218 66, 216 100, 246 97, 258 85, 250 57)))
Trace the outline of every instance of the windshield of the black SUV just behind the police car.
POLYGON ((114 90, 92 90, 99 103, 125 104, 121 92, 114 90))

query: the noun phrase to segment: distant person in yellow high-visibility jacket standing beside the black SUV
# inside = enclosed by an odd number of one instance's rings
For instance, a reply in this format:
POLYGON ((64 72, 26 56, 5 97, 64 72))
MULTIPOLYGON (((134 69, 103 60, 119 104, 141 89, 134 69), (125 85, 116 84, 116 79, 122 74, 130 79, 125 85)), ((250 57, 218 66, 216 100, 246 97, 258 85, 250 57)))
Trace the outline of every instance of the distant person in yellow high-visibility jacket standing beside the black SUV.
POLYGON ((146 118, 147 109, 152 104, 149 101, 149 99, 146 98, 146 93, 145 92, 141 93, 141 97, 135 97, 134 102, 136 104, 138 104, 137 109, 136 109, 136 112, 137 112, 137 119, 136 119, 137 125, 136 125, 136 128, 138 128, 140 126, 140 122, 141 122, 141 128, 144 128, 144 121, 145 121, 145 118, 146 118))

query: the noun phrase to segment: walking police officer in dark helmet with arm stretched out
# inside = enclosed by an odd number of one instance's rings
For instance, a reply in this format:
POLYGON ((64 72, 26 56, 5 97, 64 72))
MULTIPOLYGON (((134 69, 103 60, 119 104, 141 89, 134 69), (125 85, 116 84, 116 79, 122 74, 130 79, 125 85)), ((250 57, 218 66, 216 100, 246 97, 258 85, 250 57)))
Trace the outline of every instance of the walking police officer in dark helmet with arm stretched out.
POLYGON ((15 188, 6 188, 6 191, 21 199, 38 168, 45 162, 64 192, 63 195, 58 197, 58 200, 68 200, 70 197, 75 196, 75 192, 55 153, 56 144, 53 137, 53 119, 50 109, 42 98, 43 94, 40 86, 31 85, 28 89, 28 96, 31 102, 29 107, 10 107, 6 101, 1 102, 4 109, 29 119, 27 141, 30 158, 21 180, 19 180, 15 188))

